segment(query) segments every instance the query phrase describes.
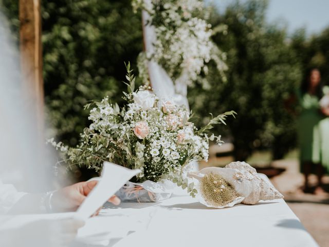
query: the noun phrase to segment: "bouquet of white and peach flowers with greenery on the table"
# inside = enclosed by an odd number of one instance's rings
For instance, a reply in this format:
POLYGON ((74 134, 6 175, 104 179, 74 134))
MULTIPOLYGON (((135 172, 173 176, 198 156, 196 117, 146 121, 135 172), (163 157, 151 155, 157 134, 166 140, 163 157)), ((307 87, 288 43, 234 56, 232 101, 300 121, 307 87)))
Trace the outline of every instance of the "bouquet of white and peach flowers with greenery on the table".
MULTIPOLYGON (((108 97, 94 102, 90 110, 89 128, 81 134, 76 148, 50 142, 64 153, 69 166, 86 165, 100 172, 104 161, 116 163, 141 172, 132 182, 158 182, 162 179, 187 188, 191 196, 197 192, 193 183, 184 178, 184 169, 191 162, 208 160, 209 140, 221 144, 221 136, 207 135, 217 123, 225 123, 226 112, 214 117, 208 125, 197 129, 193 114, 170 99, 156 97, 150 87, 135 90, 135 78, 127 65, 126 104, 120 108, 108 97)), ((93 103, 86 105, 90 108, 93 103)))

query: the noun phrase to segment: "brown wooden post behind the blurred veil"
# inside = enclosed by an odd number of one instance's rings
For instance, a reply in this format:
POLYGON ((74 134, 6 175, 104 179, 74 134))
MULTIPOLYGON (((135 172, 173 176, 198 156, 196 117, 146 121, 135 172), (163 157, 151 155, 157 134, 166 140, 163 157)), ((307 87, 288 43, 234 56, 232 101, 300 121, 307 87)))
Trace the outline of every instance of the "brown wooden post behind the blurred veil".
POLYGON ((28 100, 36 131, 44 130, 40 0, 20 0, 20 51, 23 94, 28 100))

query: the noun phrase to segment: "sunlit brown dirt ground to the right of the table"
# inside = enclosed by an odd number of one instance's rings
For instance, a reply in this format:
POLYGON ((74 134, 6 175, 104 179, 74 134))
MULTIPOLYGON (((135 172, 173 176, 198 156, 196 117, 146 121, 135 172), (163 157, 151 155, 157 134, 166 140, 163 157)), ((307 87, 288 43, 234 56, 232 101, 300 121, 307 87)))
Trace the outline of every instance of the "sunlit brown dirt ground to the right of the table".
MULTIPOLYGON (((321 247, 329 247, 329 193, 314 195, 304 193, 300 187, 304 178, 299 173, 299 165, 295 160, 277 161, 273 166, 285 168, 285 172, 271 179, 285 196, 285 201, 300 219, 306 230, 321 247)), ((329 192, 329 176, 323 178, 324 189, 329 192)), ((311 175, 311 186, 315 186, 317 178, 311 175)))

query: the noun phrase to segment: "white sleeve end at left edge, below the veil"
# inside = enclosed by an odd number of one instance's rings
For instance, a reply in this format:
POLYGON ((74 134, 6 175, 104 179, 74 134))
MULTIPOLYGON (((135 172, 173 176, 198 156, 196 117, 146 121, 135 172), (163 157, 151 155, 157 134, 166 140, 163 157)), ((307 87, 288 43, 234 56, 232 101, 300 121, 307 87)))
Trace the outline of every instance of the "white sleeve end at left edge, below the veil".
POLYGON ((0 180, 0 215, 6 214, 25 195, 25 192, 18 192, 12 184, 3 184, 0 180))

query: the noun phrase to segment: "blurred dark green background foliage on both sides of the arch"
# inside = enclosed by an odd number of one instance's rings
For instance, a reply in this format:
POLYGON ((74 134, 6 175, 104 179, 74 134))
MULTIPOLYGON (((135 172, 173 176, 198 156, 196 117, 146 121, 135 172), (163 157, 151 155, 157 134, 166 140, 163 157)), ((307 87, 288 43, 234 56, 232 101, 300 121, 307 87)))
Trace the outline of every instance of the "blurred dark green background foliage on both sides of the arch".
MULTIPOLYGON (((18 40, 18 3, 0 0, 18 40)), ((122 105, 124 61, 142 50, 141 18, 129 0, 42 1, 44 83, 48 121, 57 139, 77 144, 89 125, 83 105, 109 96, 122 105)), ((189 89, 191 108, 202 116, 198 126, 234 110, 226 136, 232 137, 236 158, 245 160, 253 149, 271 148, 275 157, 295 145, 295 121, 283 105, 299 85, 302 71, 319 67, 329 82, 329 29, 308 39, 298 30, 291 40, 284 29, 265 22, 267 1, 236 2, 224 14, 210 14, 213 41, 227 52, 227 82, 208 64, 207 81, 189 89), (224 30, 225 29, 225 30, 224 30), (224 31, 223 31, 224 30, 224 31), (223 33, 227 33, 223 36, 223 33)), ((137 79, 136 86, 140 83, 137 79)), ((216 126, 214 132, 223 133, 216 126)), ((53 135, 53 133, 50 133, 53 135)))

